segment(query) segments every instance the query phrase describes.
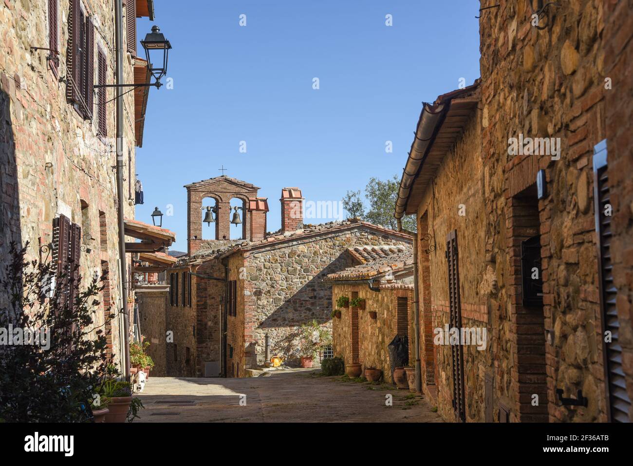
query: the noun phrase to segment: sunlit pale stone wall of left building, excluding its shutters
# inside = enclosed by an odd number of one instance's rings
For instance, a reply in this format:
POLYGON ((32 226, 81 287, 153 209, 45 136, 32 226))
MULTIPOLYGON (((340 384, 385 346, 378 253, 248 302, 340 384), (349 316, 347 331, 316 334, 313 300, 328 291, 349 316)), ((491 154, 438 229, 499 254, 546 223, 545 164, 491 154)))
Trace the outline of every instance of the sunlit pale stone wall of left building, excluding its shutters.
MULTIPOLYGON (((83 3, 84 8, 86 6, 83 3)), ((113 82, 114 18, 110 1, 91 0, 89 8, 95 23, 95 42, 106 53, 108 82, 113 82)), ((69 1, 59 3, 60 66, 54 73, 47 63, 48 51, 32 51, 31 46, 48 47, 47 3, 40 0, 7 0, 0 5, 0 189, 3 210, 0 213, 0 255, 6 257, 11 241, 30 244, 28 255, 39 255, 39 244, 52 240, 53 218, 60 214, 82 227, 84 244, 91 253, 82 252, 80 271, 86 279, 95 273, 110 271, 109 288, 102 301, 120 303, 116 270, 118 227, 116 187, 112 167, 116 148, 115 106, 108 104, 108 137, 97 136, 96 120, 84 120, 72 104, 66 102, 66 84, 60 77, 66 70, 69 1), (106 236, 100 241, 100 215, 106 236), (109 291, 109 293, 108 293, 109 291)), ((125 14, 125 11, 124 11, 125 14)), ((124 19, 125 22, 125 19, 124 19)), ((95 72, 97 52, 94 53, 95 72)), ((133 82, 133 67, 124 60, 125 82, 133 82)), ((108 91, 112 98, 113 91, 108 91)), ((134 94, 125 100, 125 138, 123 141, 125 187, 134 187, 135 135, 134 94)), ((96 111, 97 106, 94 106, 96 111)), ((134 192, 131 193, 134 199, 134 192)), ((125 217, 134 218, 134 203, 125 205, 125 217)), ((44 254, 42 258, 46 258, 44 254)), ((129 261, 128 261, 129 262, 129 261)), ((1 273, 1 272, 0 272, 1 273)), ((104 324, 106 313, 95 314, 95 327, 104 324)), ((122 322, 111 322, 113 353, 122 366, 122 322)))

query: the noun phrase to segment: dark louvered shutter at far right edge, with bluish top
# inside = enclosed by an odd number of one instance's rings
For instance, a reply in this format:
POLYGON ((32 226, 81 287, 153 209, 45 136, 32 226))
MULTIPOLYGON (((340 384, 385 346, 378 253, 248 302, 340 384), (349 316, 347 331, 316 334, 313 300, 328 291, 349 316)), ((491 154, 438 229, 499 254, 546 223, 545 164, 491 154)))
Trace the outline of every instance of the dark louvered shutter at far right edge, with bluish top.
POLYGON ((609 177, 607 173, 606 141, 594 148, 594 208, 596 237, 598 239, 598 282, 600 310, 602 314, 603 358, 605 366, 608 419, 611 422, 629 422, 631 400, 627 394, 622 346, 620 346, 620 322, 616 306, 617 288, 613 284, 611 261, 611 216, 605 215, 610 205, 609 177), (611 341, 605 341, 605 332, 611 332, 611 341))

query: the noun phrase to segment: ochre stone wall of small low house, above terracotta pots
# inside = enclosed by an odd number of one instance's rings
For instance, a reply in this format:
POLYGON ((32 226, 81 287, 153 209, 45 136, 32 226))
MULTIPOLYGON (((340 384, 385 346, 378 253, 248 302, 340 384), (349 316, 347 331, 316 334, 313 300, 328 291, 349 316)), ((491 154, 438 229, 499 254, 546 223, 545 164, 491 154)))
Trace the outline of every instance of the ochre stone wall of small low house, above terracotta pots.
POLYGON ((347 296, 351 299, 352 293, 358 293, 358 298, 365 299, 365 310, 353 310, 344 308, 341 310, 341 318, 332 319, 332 349, 334 356, 342 356, 346 364, 353 363, 352 357, 352 312, 358 312, 358 363, 363 365, 363 373, 367 367, 375 367, 382 370, 384 381, 393 383, 391 374, 391 362, 389 348, 392 339, 398 334, 398 320, 396 309, 398 297, 407 298, 409 362, 415 364, 415 329, 413 316, 413 286, 399 285, 396 287, 384 287, 380 292, 372 291, 367 282, 362 284, 337 284, 332 285, 332 310, 336 308, 336 299, 339 296, 347 296), (375 311, 377 317, 371 318, 370 311, 375 311))

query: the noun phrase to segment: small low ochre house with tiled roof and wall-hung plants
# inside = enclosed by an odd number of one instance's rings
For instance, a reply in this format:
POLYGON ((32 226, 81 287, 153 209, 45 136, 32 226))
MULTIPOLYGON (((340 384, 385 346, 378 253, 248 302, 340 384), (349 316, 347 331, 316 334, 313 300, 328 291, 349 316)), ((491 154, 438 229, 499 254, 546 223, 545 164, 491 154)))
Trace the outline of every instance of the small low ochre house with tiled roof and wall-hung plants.
POLYGON ((413 253, 404 246, 362 246, 349 250, 358 265, 325 277, 332 284, 332 350, 346 364, 382 370, 393 382, 389 344, 396 336, 409 343, 409 362, 415 362, 413 316, 413 253), (364 299, 363 309, 337 308, 337 299, 364 299))

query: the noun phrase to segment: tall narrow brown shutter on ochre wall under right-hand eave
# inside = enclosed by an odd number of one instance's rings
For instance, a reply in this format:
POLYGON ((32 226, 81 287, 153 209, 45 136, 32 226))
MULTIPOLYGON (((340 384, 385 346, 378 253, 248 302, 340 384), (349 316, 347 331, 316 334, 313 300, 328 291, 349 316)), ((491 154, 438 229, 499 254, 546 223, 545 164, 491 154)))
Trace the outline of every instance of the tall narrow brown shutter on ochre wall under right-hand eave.
MULTIPOLYGON (((446 261, 448 263, 449 326, 461 334, 460 271, 457 249, 457 230, 446 235, 446 261)), ((453 360, 453 409, 457 420, 466 420, 464 401, 464 360, 461 344, 451 344, 453 360)))

